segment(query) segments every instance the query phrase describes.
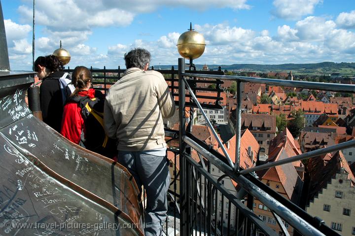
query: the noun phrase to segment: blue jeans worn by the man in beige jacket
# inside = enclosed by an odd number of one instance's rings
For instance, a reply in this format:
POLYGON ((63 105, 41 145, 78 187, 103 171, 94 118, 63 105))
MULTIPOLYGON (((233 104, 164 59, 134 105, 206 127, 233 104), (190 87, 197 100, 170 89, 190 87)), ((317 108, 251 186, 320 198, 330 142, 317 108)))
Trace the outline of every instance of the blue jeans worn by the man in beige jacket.
POLYGON ((162 235, 163 224, 167 217, 167 193, 170 185, 169 163, 166 156, 118 151, 117 160, 133 175, 140 189, 140 195, 142 185, 146 191, 144 235, 162 235))

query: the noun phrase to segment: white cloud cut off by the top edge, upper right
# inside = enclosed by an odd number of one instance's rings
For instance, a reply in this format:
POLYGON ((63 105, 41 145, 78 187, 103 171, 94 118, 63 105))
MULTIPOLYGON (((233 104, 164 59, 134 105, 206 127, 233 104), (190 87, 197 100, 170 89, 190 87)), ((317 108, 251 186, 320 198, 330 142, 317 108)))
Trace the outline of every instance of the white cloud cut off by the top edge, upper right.
POLYGON ((274 0, 271 13, 286 20, 298 20, 302 16, 312 14, 322 0, 274 0))

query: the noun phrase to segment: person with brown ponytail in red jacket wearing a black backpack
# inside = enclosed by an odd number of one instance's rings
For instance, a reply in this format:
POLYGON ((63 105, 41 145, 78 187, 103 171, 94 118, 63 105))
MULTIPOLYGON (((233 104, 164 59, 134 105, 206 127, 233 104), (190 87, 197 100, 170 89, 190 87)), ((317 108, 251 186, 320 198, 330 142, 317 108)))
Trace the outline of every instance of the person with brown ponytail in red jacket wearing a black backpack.
POLYGON ((92 74, 86 67, 75 67, 71 83, 75 90, 64 106, 61 134, 75 144, 111 157, 113 140, 103 128, 104 95, 91 88, 92 74))

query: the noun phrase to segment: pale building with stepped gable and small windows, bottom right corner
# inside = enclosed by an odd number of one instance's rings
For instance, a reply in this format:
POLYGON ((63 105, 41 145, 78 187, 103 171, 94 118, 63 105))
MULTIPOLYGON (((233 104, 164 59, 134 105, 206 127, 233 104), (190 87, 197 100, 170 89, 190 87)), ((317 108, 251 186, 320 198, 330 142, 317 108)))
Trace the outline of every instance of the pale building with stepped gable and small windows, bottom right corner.
POLYGON ((310 159, 306 211, 343 236, 355 235, 355 177, 341 151, 329 161, 310 159))

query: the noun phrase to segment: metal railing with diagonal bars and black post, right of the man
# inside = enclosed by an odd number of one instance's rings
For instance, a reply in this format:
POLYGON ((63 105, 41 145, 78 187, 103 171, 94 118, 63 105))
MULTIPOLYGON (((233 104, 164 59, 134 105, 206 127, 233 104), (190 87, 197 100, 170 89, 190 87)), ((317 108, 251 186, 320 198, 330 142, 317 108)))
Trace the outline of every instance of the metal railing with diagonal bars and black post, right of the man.
MULTIPOLYGON (((246 170, 240 170, 240 139, 241 139, 241 102, 242 102, 242 94, 241 94, 241 82, 253 82, 253 83, 263 83, 268 85, 278 85, 278 86, 287 86, 287 87, 296 87, 296 88, 311 88, 311 89, 321 89, 326 91, 337 91, 337 92, 355 92, 355 86, 353 85, 343 85, 343 84, 327 84, 327 83, 316 83, 316 82, 305 82, 305 81, 287 81, 287 80, 277 80, 277 79, 263 79, 263 78, 253 78, 253 77, 244 77, 244 76, 220 76, 220 75, 199 75, 205 78, 210 79, 220 79, 220 80, 234 80, 237 82, 237 109, 236 109, 236 162, 231 163, 228 155, 221 155, 216 151, 212 150, 211 147, 203 143, 201 140, 196 139, 193 135, 186 132, 189 127, 185 126, 185 91, 189 92, 192 95, 194 101, 198 103, 197 98, 193 96, 193 92, 191 91, 188 80, 185 77, 193 77, 194 75, 191 73, 185 72, 185 62, 184 59, 179 59, 178 61, 178 71, 179 71, 179 111, 180 111, 180 131, 179 131, 179 139, 180 139, 180 150, 179 155, 180 158, 180 195, 183 199, 180 201, 180 215, 181 220, 184 224, 181 224, 181 232, 182 235, 191 235, 191 229, 194 228, 192 218, 197 218, 198 215, 193 211, 191 205, 194 201, 196 201, 196 197, 194 196, 194 191, 190 192, 189 187, 194 181, 193 175, 189 172, 191 168, 196 168, 201 172, 206 173, 206 169, 202 168, 202 165, 196 163, 190 155, 191 148, 196 150, 199 154, 205 157, 209 165, 214 165, 218 169, 220 169, 224 175, 233 179, 239 187, 243 188, 248 195, 246 194, 246 204, 247 206, 252 205, 253 198, 258 199, 263 202, 268 209, 273 213, 276 221, 282 230, 284 235, 289 235, 287 229, 285 227, 285 222, 291 225, 295 234, 301 235, 339 235, 335 231, 331 230, 328 226, 324 224, 324 221, 317 217, 312 217, 307 212, 299 208, 294 203, 288 201, 280 194, 263 184, 261 181, 256 179, 250 172, 259 169, 268 169, 271 167, 275 167, 278 165, 283 165, 286 163, 292 163, 295 160, 304 160, 308 158, 312 158, 315 156, 319 156, 322 153, 329 153, 334 150, 341 150, 344 148, 355 146, 355 141, 348 141, 341 144, 334 145, 332 147, 323 148, 320 150, 316 150, 313 152, 305 153, 299 156, 291 157, 288 159, 284 159, 282 161, 277 161, 274 163, 268 163, 265 165, 261 165, 258 167, 253 167, 246 170)), ((204 115, 204 110, 200 108, 200 112, 204 115)), ((207 125, 213 130, 213 127, 209 122, 207 125)), ((215 135, 215 138, 218 139, 218 136, 215 135)), ((220 146, 222 147, 222 146, 220 146)), ((214 185, 215 188, 218 188, 218 185, 214 185)), ((225 192, 224 197, 227 197, 230 192, 225 192)), ((238 194, 237 194, 238 195, 238 194)), ((216 200, 216 197, 215 197, 216 200)), ((239 200, 240 201, 240 200, 239 200)), ((223 204, 223 202, 222 202, 223 204)), ((249 207, 249 209, 252 207, 249 207)), ((251 210, 249 210, 251 212, 251 210)), ((223 217, 223 215, 222 215, 223 217)), ((260 229, 258 221, 252 221, 252 217, 250 214, 243 214, 243 222, 247 226, 243 230, 236 228, 236 234, 242 235, 259 235, 257 232, 262 232, 265 235, 274 235, 275 232, 267 231, 266 229, 270 229, 268 226, 262 226, 260 229), (250 222, 251 221, 251 222, 250 222), (249 222, 249 223, 248 223, 249 222), (248 225, 251 225, 248 227, 248 225), (256 229, 257 228, 257 229, 256 229)), ((241 219, 239 219, 241 220, 241 219)), ((238 221, 239 222, 239 221, 238 221)), ((213 226, 213 222, 211 222, 213 226)), ((214 227, 217 228, 216 222, 214 222, 214 227)), ((221 231, 223 227, 221 228, 221 231)), ((222 231, 223 232, 223 231, 222 231)), ((208 232, 210 233, 210 232, 208 232)), ((214 232, 216 233, 216 232, 214 232)), ((210 235, 210 234, 209 234, 210 235)), ((223 234, 220 234, 223 235, 223 234)))

